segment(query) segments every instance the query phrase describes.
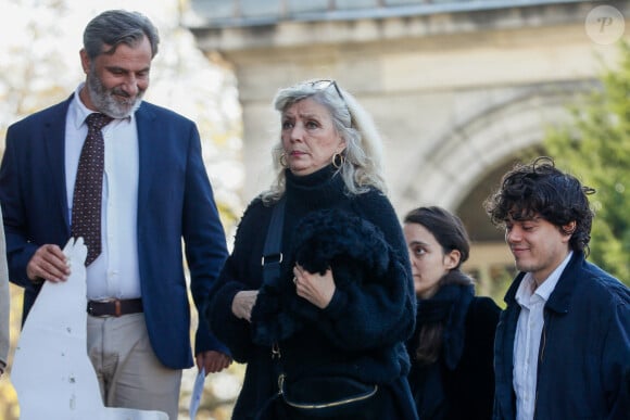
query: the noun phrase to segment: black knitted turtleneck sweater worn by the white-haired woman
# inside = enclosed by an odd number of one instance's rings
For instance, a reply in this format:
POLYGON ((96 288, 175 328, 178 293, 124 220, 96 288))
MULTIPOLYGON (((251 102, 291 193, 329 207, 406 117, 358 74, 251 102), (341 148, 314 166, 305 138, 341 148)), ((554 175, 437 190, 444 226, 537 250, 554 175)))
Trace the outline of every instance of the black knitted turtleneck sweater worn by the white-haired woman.
MULTIPOLYGON (((415 323, 415 296, 406 244, 389 200, 377 190, 349 194, 331 166, 303 177, 286 174, 284 254, 292 254, 294 230, 305 216, 339 209, 374 226, 390 247, 393 262, 387 276, 370 279, 369 288, 338 287, 328 307, 320 310, 322 321, 306 324, 282 340, 285 369, 294 374, 308 374, 310 370, 351 374, 381 384, 406 376, 410 362, 404 342, 415 323)), ((256 303, 252 323, 236 318, 231 311, 236 293, 263 285, 261 256, 272 208, 260 198, 250 203, 239 224, 234 251, 211 291, 206 311, 213 332, 229 347, 235 360, 248 364, 235 419, 250 418, 277 392, 270 347, 252 340, 257 328, 256 306, 262 304, 256 303)), ((293 264, 291 257, 285 258, 285 277, 292 276, 293 264)), ((291 283, 291 277, 280 281, 291 283)), ((303 305, 313 306, 307 301, 303 305)))

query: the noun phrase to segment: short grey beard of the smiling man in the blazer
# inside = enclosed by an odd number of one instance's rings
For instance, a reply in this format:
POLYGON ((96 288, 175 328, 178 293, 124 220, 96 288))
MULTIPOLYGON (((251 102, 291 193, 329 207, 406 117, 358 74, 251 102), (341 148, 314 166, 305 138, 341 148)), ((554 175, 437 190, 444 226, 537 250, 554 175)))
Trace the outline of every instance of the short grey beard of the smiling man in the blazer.
POLYGON ((139 90, 136 99, 133 100, 121 88, 105 89, 93 69, 88 74, 87 88, 90 100, 97 110, 112 118, 126 118, 130 116, 138 110, 144 96, 144 91, 139 90), (121 101, 114 96, 126 99, 121 101))

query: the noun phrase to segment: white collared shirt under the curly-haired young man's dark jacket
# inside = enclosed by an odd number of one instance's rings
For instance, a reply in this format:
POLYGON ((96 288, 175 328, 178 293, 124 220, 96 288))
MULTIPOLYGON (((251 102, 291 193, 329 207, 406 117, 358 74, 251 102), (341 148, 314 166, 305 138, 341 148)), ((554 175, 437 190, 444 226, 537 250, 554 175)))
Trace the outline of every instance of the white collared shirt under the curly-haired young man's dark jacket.
POLYGON ((514 339, 514 391, 516 392, 516 419, 532 420, 536 409, 536 383, 538 355, 544 327, 544 305, 554 291, 565 267, 574 253, 563 260, 540 287, 531 272, 522 278, 516 291, 520 315, 514 339))

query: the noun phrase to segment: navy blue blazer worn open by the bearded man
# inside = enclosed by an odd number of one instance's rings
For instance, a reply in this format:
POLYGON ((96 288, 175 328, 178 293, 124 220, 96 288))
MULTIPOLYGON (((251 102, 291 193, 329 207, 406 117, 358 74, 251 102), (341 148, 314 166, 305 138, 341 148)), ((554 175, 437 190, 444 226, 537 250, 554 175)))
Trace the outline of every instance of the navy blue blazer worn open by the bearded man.
MULTIPOLYGON (((9 275, 25 288, 24 317, 38 288, 26 265, 42 244, 61 247, 71 237, 65 188, 65 122, 72 97, 13 124, 0 167, 9 275)), ((147 329, 153 351, 166 367, 193 366, 190 307, 184 271, 182 239, 190 290, 198 314, 225 258, 225 232, 201 155, 193 122, 143 102, 136 112, 139 142, 138 259, 147 329)), ((199 317, 196 354, 229 354, 199 317)))

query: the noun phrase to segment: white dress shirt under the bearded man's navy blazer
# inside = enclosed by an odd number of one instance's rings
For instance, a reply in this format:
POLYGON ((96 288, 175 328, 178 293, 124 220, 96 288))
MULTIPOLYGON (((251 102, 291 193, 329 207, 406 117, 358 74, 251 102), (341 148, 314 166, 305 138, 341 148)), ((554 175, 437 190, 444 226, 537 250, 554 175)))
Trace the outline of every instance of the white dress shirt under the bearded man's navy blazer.
MULTIPOLYGON (((88 127, 85 122, 92 113, 74 93, 65 131, 65 183, 68 220, 72 221, 72 203, 78 161, 88 127)), ((101 212, 102 253, 87 267, 88 300, 140 297, 138 268, 138 130, 136 119, 114 119, 103 129, 105 161, 103 174, 103 201, 101 212)), ((72 269, 72 267, 71 267, 72 269)))

